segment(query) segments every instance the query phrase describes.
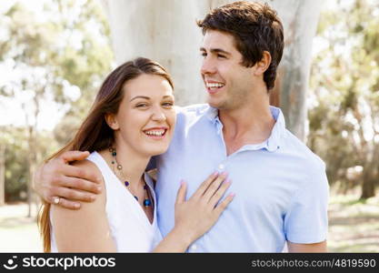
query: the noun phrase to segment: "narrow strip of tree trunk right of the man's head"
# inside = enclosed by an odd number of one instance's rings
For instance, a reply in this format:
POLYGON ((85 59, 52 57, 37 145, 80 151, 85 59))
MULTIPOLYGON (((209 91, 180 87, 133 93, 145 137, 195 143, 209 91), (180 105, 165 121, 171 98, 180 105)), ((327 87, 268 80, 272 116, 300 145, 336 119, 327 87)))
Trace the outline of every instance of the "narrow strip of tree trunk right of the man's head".
POLYGON ((323 1, 272 0, 284 25, 284 56, 271 97, 284 113, 287 128, 305 141, 306 92, 312 61, 312 41, 323 1))

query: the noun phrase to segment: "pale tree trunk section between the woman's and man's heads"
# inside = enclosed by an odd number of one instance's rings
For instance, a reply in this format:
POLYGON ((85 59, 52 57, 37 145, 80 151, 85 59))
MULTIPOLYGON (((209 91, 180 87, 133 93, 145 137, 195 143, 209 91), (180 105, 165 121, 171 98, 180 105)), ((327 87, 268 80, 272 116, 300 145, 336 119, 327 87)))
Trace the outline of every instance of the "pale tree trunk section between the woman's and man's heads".
POLYGON ((204 102, 199 67, 202 41, 195 19, 209 3, 202 0, 103 1, 117 64, 145 56, 165 66, 175 83, 179 106, 204 102))

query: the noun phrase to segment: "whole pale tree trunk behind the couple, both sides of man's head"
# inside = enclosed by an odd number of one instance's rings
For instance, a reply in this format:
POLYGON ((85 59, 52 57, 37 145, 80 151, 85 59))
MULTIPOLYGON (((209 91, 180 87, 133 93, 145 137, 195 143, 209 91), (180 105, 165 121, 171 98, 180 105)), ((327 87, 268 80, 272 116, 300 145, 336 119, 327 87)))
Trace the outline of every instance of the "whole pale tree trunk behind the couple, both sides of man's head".
MULTIPOLYGON (((204 102, 199 76, 203 35, 195 25, 210 8, 226 0, 102 0, 111 27, 118 64, 135 56, 157 60, 175 81, 178 105, 204 102)), ((266 1, 262 1, 266 2, 266 1)), ((271 0, 284 23, 284 57, 271 103, 281 106, 287 127, 305 138, 305 96, 311 64, 312 38, 322 1, 271 0)))

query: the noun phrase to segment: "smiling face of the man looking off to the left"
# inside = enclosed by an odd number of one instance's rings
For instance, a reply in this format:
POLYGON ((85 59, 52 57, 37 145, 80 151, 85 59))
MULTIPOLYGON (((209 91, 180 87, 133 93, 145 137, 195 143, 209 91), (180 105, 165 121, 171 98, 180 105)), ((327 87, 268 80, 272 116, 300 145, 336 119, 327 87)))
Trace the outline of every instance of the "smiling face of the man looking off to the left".
POLYGON ((254 66, 241 65, 243 56, 234 45, 234 36, 207 30, 200 51, 208 104, 222 110, 246 105, 253 96, 254 66))

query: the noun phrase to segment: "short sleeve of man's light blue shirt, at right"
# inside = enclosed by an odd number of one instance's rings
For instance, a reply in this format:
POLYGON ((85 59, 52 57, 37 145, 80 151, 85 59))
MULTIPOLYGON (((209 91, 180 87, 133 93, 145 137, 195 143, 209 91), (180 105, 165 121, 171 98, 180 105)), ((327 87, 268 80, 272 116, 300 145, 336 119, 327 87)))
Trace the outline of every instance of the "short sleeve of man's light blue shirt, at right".
POLYGON ((308 181, 298 189, 284 216, 285 237, 296 244, 318 243, 327 237, 329 184, 324 162, 310 169, 308 181))

